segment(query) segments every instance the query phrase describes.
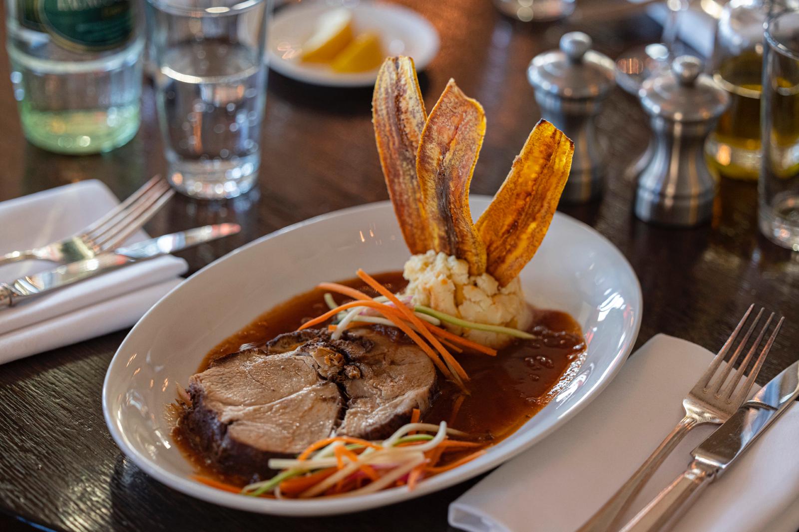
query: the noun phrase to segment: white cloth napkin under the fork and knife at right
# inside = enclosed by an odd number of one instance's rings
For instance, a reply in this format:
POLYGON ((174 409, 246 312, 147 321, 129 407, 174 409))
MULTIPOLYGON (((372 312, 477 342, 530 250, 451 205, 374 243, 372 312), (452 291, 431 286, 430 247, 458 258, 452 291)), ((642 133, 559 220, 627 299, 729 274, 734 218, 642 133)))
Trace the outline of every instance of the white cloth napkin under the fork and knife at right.
MULTIPOLYGON (((682 418, 682 398, 712 358, 682 339, 650 339, 574 419, 455 500, 450 524, 470 532, 576 530, 682 418)), ((690 451, 712 431, 698 427, 687 435, 628 518, 685 470, 690 451)), ((799 408, 793 405, 708 487, 675 530, 796 532, 797 435, 799 408)))

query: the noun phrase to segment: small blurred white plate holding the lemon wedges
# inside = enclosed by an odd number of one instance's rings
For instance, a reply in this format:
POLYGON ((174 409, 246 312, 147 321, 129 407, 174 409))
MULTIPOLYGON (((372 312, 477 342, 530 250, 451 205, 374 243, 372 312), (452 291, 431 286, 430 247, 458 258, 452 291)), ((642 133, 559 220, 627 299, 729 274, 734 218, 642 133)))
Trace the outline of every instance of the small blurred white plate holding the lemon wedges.
MULTIPOLYGON (((302 45, 316 30, 316 21, 326 11, 339 9, 324 2, 301 2, 278 10, 269 25, 269 67, 286 77, 312 85, 361 87, 374 85, 377 69, 359 73, 334 72, 327 65, 300 61, 302 45)), ((407 55, 421 71, 439 51, 439 34, 422 15, 393 4, 359 3, 350 8, 356 34, 380 34, 387 56, 407 55)))

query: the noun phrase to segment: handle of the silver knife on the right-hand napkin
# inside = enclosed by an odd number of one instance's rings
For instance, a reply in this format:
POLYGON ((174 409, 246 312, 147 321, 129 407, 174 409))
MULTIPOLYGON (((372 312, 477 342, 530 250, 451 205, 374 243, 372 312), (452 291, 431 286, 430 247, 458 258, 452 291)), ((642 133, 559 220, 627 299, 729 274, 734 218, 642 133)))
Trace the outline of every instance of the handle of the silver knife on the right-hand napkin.
POLYGON ((683 474, 638 512, 620 532, 671 530, 715 477, 714 467, 694 460, 683 474))

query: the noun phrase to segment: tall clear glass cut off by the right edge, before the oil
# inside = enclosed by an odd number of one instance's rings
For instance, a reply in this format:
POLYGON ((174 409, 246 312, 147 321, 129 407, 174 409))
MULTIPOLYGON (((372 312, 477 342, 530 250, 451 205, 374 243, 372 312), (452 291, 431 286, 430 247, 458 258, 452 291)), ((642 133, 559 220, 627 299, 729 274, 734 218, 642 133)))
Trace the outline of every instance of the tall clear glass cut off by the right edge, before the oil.
POLYGON ((766 24, 762 85, 760 228, 799 251, 799 10, 766 24))

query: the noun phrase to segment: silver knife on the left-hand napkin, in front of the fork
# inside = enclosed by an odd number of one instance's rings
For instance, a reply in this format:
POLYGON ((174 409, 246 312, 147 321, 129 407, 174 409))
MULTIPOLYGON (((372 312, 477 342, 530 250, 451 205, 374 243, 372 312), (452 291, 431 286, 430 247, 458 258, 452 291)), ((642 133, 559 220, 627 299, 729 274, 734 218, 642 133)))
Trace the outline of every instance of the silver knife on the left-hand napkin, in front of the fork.
POLYGON ((20 277, 9 284, 0 283, 0 308, 10 307, 19 300, 69 286, 80 280, 111 272, 127 264, 167 255, 216 240, 222 236, 234 235, 240 230, 241 227, 238 224, 215 224, 188 231, 173 232, 170 235, 157 236, 124 248, 117 248, 113 252, 101 253, 93 259, 65 264, 49 272, 20 277))

